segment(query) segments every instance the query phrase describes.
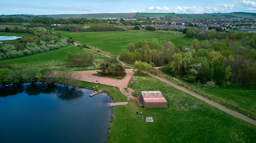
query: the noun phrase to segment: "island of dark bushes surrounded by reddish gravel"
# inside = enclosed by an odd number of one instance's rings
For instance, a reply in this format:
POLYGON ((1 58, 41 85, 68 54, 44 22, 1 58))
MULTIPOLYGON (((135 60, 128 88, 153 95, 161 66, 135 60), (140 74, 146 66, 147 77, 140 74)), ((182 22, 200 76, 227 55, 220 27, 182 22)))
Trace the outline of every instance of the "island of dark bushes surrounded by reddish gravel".
POLYGON ((100 71, 97 71, 97 73, 101 74, 101 75, 112 75, 112 76, 124 76, 126 75, 125 69, 122 65, 120 64, 116 64, 116 65, 112 65, 112 64, 100 64, 99 67, 100 71))

